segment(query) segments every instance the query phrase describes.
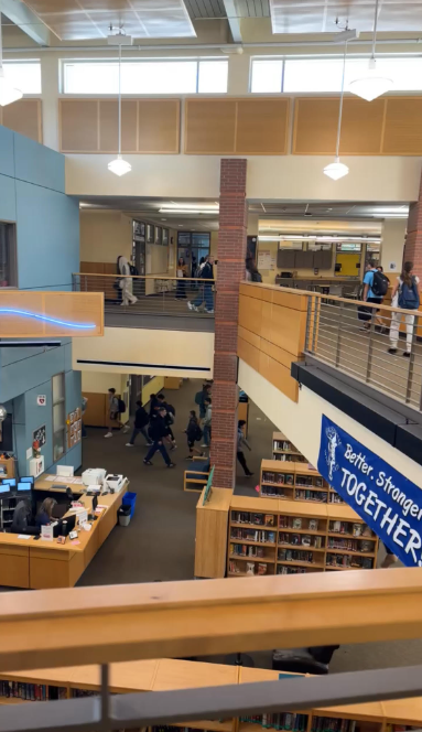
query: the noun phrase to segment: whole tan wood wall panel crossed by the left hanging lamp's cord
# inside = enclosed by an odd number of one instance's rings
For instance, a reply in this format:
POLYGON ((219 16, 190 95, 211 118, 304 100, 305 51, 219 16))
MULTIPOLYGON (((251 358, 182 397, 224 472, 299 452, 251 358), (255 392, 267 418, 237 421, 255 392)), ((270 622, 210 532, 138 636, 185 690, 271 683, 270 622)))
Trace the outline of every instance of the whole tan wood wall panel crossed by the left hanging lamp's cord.
MULTIPOLYGON (((117 99, 59 99, 61 151, 117 153, 117 99)), ((177 153, 180 99, 125 99, 123 153, 177 153)))

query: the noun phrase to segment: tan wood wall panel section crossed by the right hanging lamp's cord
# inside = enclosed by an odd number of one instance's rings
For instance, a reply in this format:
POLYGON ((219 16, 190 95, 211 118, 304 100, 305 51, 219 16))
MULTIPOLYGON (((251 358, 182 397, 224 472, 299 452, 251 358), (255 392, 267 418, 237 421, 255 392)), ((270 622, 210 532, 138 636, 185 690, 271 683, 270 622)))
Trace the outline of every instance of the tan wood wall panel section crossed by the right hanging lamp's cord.
MULTIPOLYGON (((339 98, 295 100, 293 154, 335 153, 339 98)), ((370 104, 364 99, 344 100, 340 154, 376 155, 381 150, 386 99, 370 104)))

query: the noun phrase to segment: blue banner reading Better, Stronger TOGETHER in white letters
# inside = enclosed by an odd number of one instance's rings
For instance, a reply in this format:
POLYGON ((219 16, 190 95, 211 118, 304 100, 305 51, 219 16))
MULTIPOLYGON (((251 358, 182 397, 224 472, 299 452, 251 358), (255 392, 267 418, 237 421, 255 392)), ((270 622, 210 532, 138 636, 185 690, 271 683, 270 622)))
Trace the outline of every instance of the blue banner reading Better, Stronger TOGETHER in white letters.
POLYGON ((321 475, 407 567, 422 567, 422 491, 323 415, 321 475))

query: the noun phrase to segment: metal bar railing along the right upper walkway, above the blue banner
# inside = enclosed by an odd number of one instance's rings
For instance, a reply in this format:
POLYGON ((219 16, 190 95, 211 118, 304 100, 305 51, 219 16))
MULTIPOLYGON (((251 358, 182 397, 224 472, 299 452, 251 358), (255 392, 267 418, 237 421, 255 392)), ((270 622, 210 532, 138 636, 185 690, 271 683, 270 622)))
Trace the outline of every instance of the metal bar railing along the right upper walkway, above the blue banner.
POLYGON ((305 353, 422 409, 421 312, 329 295, 307 297, 305 353))

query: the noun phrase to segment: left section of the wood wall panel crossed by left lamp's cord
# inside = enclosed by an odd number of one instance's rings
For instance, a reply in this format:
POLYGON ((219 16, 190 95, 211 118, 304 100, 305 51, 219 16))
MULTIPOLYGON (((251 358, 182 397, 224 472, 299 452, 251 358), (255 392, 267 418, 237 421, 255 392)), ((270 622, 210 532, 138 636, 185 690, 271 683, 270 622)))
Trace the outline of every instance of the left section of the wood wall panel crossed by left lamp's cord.
POLYGON ((98 100, 59 99, 62 152, 99 152, 98 100))

